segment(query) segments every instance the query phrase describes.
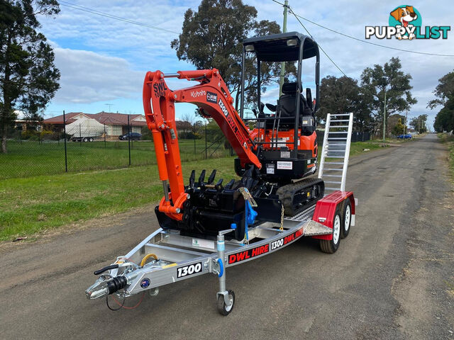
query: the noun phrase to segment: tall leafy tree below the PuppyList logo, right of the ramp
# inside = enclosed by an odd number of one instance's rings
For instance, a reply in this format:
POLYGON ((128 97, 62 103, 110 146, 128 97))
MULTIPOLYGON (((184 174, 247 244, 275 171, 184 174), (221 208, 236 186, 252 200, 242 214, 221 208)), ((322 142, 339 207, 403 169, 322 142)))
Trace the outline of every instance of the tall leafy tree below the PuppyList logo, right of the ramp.
POLYGON ((399 58, 392 57, 384 66, 375 64, 361 74, 361 93, 372 109, 375 130, 382 128, 384 95, 386 93, 386 118, 405 111, 417 103, 411 96, 411 75, 402 72, 399 58))

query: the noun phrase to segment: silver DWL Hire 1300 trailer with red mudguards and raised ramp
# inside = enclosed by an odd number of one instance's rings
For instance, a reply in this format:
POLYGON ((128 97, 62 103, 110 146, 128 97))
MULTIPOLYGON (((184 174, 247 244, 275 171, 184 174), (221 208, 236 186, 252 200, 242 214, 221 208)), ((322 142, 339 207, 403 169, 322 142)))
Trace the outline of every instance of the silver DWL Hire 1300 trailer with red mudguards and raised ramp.
MULTIPOLYGON (((332 171, 336 175, 331 176, 337 176, 341 181, 326 181, 331 183, 327 190, 332 192, 315 205, 292 217, 282 213, 280 223, 264 222, 250 226, 243 241, 226 240, 224 236, 235 231, 235 223, 230 229, 218 232, 217 239, 184 236, 179 230, 157 229, 128 254, 119 256, 110 266, 95 271, 94 274, 99 278, 85 291, 87 298, 107 299, 114 294, 123 301, 120 303, 121 308, 127 297, 145 292, 157 295, 162 285, 211 273, 218 276, 218 312, 228 315, 235 305, 235 293, 226 288, 227 268, 279 251, 301 237, 319 239, 321 251, 333 254, 341 239, 350 233, 350 227, 355 225, 355 207, 358 205, 353 192, 345 191, 352 126, 351 113, 328 115, 319 178, 323 177, 323 171, 324 176, 330 176, 329 171, 332 171), (343 116, 348 117, 343 119, 343 116), (342 123, 344 121, 348 121, 348 125, 342 123), (344 162, 333 162, 340 157, 343 157, 344 162)), ((240 192, 248 206, 253 208, 256 203, 248 190, 240 192)), ((248 209, 245 219, 248 220, 248 209)))

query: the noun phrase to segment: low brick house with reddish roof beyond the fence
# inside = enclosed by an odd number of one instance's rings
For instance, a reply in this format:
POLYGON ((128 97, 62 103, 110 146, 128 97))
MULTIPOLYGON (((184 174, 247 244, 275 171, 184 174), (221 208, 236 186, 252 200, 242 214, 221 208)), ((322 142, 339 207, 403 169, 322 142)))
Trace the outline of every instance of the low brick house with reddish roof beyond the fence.
MULTIPOLYGON (((57 115, 43 120, 42 124, 50 130, 62 131, 65 123, 68 125, 81 118, 92 118, 105 125, 108 137, 118 137, 128 132, 128 115, 104 111, 99 113, 70 112, 65 114, 65 121, 63 120, 63 115, 57 115)), ((131 126, 131 132, 141 133, 142 127, 147 125, 145 116, 129 115, 129 125, 131 126)))

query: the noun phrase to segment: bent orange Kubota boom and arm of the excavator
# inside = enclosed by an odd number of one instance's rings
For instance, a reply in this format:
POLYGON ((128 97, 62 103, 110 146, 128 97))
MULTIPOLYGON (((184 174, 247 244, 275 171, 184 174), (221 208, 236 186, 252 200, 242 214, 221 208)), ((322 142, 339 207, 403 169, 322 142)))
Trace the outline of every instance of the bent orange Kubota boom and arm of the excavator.
POLYGON ((242 166, 262 167, 255 154, 255 145, 248 128, 235 108, 233 98, 217 69, 179 71, 164 74, 148 72, 143 83, 143 108, 148 128, 153 134, 157 168, 164 189, 159 211, 173 220, 182 220, 187 193, 184 190, 179 156, 175 103, 194 103, 202 115, 213 118, 235 150, 242 166), (165 78, 199 81, 195 86, 172 91, 165 78), (168 186, 170 185, 170 192, 168 186))

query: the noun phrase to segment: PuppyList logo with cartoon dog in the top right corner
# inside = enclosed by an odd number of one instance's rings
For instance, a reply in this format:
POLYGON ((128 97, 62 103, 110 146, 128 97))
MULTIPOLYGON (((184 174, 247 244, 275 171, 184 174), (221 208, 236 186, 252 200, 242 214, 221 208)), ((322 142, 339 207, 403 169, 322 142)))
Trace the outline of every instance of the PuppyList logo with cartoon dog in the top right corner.
POLYGON ((389 13, 389 26, 366 26, 366 39, 375 35, 378 39, 448 39, 451 26, 425 26, 419 11, 414 6, 402 5, 389 13))

